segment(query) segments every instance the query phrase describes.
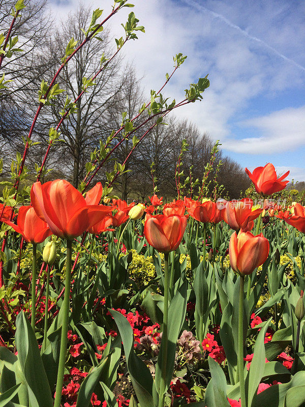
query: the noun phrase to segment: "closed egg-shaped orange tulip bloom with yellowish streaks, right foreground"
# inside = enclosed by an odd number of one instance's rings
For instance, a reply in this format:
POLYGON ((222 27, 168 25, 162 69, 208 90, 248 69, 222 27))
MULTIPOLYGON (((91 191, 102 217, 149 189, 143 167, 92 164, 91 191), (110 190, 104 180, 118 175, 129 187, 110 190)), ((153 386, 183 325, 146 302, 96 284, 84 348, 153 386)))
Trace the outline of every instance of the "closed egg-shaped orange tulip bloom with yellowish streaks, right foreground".
POLYGON ((239 231, 231 235, 229 244, 230 265, 242 276, 253 273, 267 259, 269 242, 262 234, 254 236, 251 232, 239 231))

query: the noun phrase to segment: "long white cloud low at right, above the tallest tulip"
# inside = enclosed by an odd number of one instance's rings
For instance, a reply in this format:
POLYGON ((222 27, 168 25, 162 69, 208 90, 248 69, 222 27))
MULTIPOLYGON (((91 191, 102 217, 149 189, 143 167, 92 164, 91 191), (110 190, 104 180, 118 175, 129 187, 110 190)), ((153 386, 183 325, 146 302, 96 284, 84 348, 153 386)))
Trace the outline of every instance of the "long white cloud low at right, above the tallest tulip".
POLYGON ((223 144, 227 150, 270 155, 305 146, 305 106, 275 111, 240 122, 239 125, 252 128, 260 136, 225 140, 223 144))

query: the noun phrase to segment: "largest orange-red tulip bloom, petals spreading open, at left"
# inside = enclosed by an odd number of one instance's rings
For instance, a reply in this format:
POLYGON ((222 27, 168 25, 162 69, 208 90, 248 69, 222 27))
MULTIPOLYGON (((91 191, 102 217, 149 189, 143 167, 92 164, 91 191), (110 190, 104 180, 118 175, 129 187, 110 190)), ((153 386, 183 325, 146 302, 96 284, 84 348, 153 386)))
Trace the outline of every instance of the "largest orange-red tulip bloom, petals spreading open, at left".
POLYGON ((35 182, 31 202, 37 215, 61 238, 80 236, 103 219, 112 207, 87 205, 82 194, 66 180, 35 182))

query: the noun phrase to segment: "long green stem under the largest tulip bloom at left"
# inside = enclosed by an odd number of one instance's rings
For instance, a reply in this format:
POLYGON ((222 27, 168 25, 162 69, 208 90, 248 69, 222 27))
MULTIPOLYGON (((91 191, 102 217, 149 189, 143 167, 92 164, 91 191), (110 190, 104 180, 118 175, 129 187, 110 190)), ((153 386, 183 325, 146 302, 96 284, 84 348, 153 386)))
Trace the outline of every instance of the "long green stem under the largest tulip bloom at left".
POLYGON ((66 261, 66 279, 65 279, 65 297, 62 305, 62 336, 60 339, 59 363, 56 381, 56 395, 54 407, 60 407, 62 400, 62 390, 64 383, 67 343, 68 343, 68 322, 70 308, 70 287, 71 287, 71 258, 72 258, 72 240, 67 239, 67 261, 66 261))

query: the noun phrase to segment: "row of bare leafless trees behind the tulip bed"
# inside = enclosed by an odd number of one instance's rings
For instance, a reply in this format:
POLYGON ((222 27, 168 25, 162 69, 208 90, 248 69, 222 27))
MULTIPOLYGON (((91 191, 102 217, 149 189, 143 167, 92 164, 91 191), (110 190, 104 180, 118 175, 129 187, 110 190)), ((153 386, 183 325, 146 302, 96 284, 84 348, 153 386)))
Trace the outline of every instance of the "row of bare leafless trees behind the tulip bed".
MULTIPOLYGON (((13 4, 14 0, 2 0, 2 7, 6 7, 7 13, 0 19, 0 31, 5 32, 9 26, 9 13, 13 4)), ((54 75, 71 38, 78 43, 84 39, 81 28, 88 26, 91 19, 91 11, 80 4, 68 22, 59 26, 51 20, 46 0, 30 0, 25 4, 25 12, 14 26, 13 33, 18 33, 18 48, 23 49, 23 52, 15 57, 13 63, 3 64, 6 78, 13 80, 12 85, 0 95, 0 155, 5 157, 6 171, 9 171, 10 160, 16 150, 23 151, 21 136, 26 136, 32 123, 41 80, 48 82, 54 75), (17 91, 18 100, 15 98, 17 91)), ((27 161, 29 171, 34 173, 35 163, 39 166, 42 164, 49 128, 55 127, 62 118, 59 112, 65 105, 66 94, 74 100, 82 90, 83 78, 92 77, 99 70, 103 55, 107 57, 113 53, 114 41, 109 31, 105 29, 101 38, 103 41, 97 41, 94 47, 84 45, 60 75, 57 83, 65 91, 64 96, 59 95, 51 108, 44 109, 40 115, 33 137, 38 143, 31 147, 27 161)), ((136 78, 133 67, 127 65, 122 57, 116 56, 97 77, 95 84, 79 98, 75 111, 61 125, 59 130, 62 141, 55 143, 46 162, 46 166, 53 170, 43 180, 66 178, 78 186, 85 176, 85 165, 90 160, 90 153, 99 148, 100 140, 105 141, 113 129, 120 127, 123 112, 126 112, 126 118, 131 119, 146 99, 141 80, 136 78)), ((201 134, 192 123, 178 120, 173 115, 166 117, 166 123, 155 127, 138 144, 126 163, 125 169, 128 171, 114 185, 114 193, 124 199, 145 200, 153 192, 151 163, 154 162, 158 193, 165 198, 176 196, 176 163, 184 139, 187 140, 188 149, 182 157, 180 171, 183 169, 185 176, 188 176, 192 168, 192 180, 202 179, 214 144, 212 138, 208 134, 201 134)), ((134 122, 134 126, 136 124, 134 122)), ((139 138, 148 126, 135 135, 139 138)), ((111 157, 123 163, 132 145, 132 140, 126 139, 111 157)), ((208 180, 214 179, 216 165, 220 160, 222 165, 217 172, 217 182, 225 188, 223 195, 238 198, 240 191, 249 187, 249 179, 243 168, 230 158, 223 157, 221 152, 216 154, 214 170, 210 171, 208 180)), ((105 173, 111 167, 113 161, 108 162, 104 170, 98 173, 99 179, 96 181, 104 183, 105 173)), ((196 188, 198 190, 198 186, 196 188)), ((209 192, 213 188, 211 182, 209 192)))

